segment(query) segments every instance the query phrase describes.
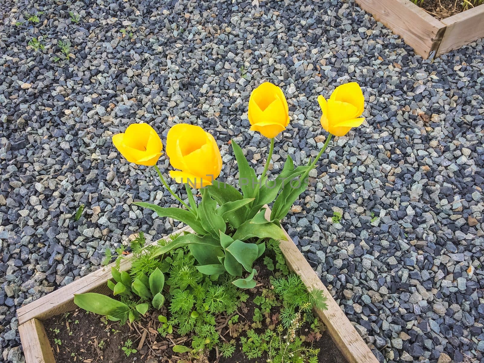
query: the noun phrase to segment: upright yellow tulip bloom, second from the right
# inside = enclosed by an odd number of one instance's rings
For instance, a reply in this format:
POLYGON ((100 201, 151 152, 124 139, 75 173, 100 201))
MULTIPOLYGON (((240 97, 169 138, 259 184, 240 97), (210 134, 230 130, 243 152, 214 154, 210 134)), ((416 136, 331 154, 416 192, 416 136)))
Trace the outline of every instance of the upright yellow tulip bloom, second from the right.
POLYGON ((286 129, 289 124, 289 107, 283 91, 270 82, 264 82, 249 99, 247 114, 251 130, 272 138, 286 129))

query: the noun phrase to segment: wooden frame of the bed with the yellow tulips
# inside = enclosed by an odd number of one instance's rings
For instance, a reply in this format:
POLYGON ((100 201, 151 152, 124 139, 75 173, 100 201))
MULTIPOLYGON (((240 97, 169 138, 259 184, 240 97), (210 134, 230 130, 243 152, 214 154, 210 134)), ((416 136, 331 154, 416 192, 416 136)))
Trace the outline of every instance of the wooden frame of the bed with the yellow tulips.
MULTIPOLYGON (((270 210, 267 210, 270 214, 270 210)), ((191 232, 189 227, 180 231, 191 232)), ((284 228, 283 228, 284 230, 284 228)), ((363 338, 357 333, 351 322, 341 310, 338 303, 313 271, 304 256, 292 242, 284 230, 287 240, 281 240, 281 251, 286 257, 289 268, 301 276, 302 281, 308 288, 316 287, 324 291, 328 298, 328 310, 316 310, 316 314, 322 319, 328 333, 334 343, 343 353, 348 363, 378 363, 378 360, 365 344, 363 338)), ((108 265, 100 270, 61 287, 40 299, 30 302, 17 310, 19 322, 19 333, 26 363, 55 363, 52 348, 45 334, 42 320, 52 318, 55 315, 76 309, 74 294, 95 291, 109 293, 107 280, 111 278, 111 266, 108 265)), ((121 271, 128 271, 131 268, 130 255, 120 265, 121 271)))

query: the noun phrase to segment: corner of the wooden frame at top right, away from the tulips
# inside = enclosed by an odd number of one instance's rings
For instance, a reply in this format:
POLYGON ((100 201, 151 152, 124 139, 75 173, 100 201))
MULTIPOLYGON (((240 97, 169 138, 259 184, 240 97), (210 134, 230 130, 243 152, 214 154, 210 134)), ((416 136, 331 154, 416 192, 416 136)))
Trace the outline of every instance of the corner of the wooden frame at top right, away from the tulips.
POLYGON ((437 20, 410 0, 355 0, 424 59, 484 37, 484 4, 437 20))

